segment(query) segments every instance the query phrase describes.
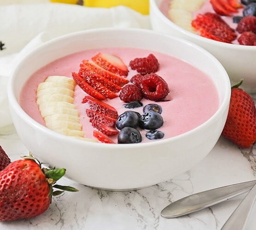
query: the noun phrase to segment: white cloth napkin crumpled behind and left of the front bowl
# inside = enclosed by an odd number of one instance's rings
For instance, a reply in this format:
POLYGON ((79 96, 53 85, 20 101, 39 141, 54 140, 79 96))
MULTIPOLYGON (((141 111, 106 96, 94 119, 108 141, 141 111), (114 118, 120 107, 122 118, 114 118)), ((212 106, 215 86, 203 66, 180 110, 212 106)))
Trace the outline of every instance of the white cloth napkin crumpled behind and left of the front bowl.
POLYGON ((12 69, 37 46, 85 29, 151 29, 149 16, 125 6, 106 9, 58 3, 6 4, 0 5, 0 42, 4 44, 0 50, 0 129, 12 124, 6 90, 12 69))

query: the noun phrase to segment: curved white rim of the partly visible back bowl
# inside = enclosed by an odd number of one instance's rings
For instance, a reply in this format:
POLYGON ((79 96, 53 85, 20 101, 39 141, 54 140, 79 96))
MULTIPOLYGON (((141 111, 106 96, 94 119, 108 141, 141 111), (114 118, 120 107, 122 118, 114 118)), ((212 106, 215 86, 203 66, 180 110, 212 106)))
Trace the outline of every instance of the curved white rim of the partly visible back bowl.
POLYGON ((181 32, 182 34, 184 34, 186 36, 191 37, 194 40, 199 40, 200 42, 207 43, 207 44, 209 44, 211 46, 212 45, 216 45, 216 46, 220 46, 220 47, 229 48, 231 50, 237 50, 238 49, 238 51, 239 50, 243 50, 243 51, 247 51, 248 50, 248 51, 250 51, 252 49, 252 50, 256 51, 256 46, 243 46, 243 45, 239 45, 239 44, 230 44, 230 43, 225 43, 225 42, 221 42, 221 41, 216 41, 216 40, 212 40, 212 39, 208 39, 208 38, 202 37, 200 35, 193 34, 190 31, 179 27, 178 25, 173 23, 169 18, 167 18, 161 12, 161 10, 159 9, 159 6, 157 6, 155 0, 149 0, 149 16, 150 16, 150 19, 152 17, 155 17, 155 16, 152 16, 152 9, 151 9, 151 7, 154 7, 154 10, 155 10, 157 16, 160 17, 162 21, 164 21, 167 24, 170 24, 170 26, 172 26, 174 29, 178 30, 179 32, 181 32))

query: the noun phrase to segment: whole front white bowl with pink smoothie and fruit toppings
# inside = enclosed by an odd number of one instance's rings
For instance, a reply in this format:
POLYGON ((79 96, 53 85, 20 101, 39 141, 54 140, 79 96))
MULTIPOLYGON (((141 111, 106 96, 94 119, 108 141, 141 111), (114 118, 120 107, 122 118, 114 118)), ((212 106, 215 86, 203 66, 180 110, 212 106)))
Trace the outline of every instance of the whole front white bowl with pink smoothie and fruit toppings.
POLYGON ((69 178, 106 190, 151 186, 194 167, 220 137, 230 91, 225 69, 210 53, 139 29, 87 30, 51 40, 18 63, 8 85, 13 123, 27 149, 66 168, 69 178), (153 56, 149 74, 133 66, 153 56), (106 60, 112 69, 103 70, 106 60), (119 85, 114 93, 113 79, 119 85), (129 100, 140 105, 126 108, 129 100), (127 111, 131 119, 124 125, 127 111))

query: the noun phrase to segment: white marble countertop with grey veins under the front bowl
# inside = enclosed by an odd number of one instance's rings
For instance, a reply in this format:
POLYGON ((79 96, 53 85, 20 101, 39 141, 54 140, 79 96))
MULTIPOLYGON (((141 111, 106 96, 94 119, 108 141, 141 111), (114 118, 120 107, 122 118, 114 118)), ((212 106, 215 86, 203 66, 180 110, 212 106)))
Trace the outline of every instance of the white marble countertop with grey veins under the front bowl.
MULTIPOLYGON (((256 95, 255 95, 256 96, 256 95)), ((11 160, 29 151, 15 129, 0 131, 0 145, 11 160)), ((2 230, 220 230, 244 195, 179 218, 164 219, 161 210, 182 197, 256 178, 256 144, 248 149, 220 137, 214 149, 188 172, 149 188, 117 192, 98 190, 63 178, 60 184, 79 189, 53 198, 42 215, 0 223, 2 230)), ((256 226, 249 219, 249 230, 256 226)))

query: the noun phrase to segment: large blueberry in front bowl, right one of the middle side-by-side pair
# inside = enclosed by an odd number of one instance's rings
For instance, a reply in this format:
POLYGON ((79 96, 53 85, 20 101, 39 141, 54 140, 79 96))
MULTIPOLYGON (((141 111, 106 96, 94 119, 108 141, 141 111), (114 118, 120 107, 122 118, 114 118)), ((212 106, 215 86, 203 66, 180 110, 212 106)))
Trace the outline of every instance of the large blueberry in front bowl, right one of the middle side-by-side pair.
POLYGON ((162 116, 153 111, 149 111, 141 115, 139 120, 139 127, 143 129, 155 130, 164 124, 162 116))

